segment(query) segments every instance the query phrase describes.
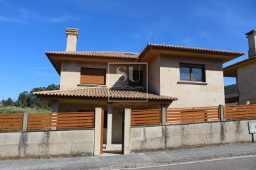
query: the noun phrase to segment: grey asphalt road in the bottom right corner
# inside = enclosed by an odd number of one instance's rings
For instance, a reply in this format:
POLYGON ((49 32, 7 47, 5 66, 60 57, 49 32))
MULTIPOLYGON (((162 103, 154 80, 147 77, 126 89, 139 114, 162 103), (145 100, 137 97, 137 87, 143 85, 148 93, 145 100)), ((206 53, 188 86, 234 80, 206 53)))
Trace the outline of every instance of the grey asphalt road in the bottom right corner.
POLYGON ((134 169, 161 169, 161 170, 255 170, 256 157, 240 157, 231 159, 218 159, 203 162, 189 162, 183 164, 172 164, 166 166, 151 166, 134 169))

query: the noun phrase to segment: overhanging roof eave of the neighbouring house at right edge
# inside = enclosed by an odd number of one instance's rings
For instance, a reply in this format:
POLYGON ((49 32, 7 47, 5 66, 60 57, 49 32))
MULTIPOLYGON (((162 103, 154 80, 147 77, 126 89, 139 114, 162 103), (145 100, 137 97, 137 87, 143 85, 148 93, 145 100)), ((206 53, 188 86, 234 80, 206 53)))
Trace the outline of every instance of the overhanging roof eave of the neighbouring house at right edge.
POLYGON ((237 77, 238 76, 237 71, 240 67, 245 67, 255 62, 256 62, 256 56, 247 58, 246 60, 242 60, 235 64, 231 64, 230 66, 223 68, 224 77, 237 77))

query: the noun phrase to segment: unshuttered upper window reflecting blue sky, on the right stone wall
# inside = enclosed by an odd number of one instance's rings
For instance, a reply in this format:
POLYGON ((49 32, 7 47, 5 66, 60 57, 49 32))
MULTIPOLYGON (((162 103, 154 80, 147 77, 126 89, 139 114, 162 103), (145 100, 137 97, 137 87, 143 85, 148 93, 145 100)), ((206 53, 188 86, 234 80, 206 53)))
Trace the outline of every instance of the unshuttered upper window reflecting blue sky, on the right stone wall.
POLYGON ((181 81, 206 82, 206 70, 203 64, 180 64, 181 81))

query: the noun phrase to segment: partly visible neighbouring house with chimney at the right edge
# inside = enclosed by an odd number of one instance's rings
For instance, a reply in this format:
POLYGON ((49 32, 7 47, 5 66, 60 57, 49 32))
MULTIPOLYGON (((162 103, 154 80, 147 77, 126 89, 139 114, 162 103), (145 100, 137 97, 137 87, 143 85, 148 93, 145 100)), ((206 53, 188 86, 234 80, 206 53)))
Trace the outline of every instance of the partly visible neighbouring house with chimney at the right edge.
POLYGON ((236 100, 238 104, 256 103, 256 30, 245 35, 249 44, 249 58, 223 69, 224 77, 235 77, 238 86, 238 92, 225 96, 225 99, 236 100))

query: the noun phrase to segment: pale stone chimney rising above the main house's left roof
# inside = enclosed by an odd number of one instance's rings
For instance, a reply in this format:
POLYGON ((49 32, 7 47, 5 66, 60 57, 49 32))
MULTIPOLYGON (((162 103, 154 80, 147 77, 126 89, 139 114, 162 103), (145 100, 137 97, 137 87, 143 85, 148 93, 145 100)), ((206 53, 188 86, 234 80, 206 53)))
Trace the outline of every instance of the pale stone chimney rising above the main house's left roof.
POLYGON ((76 44, 78 41, 79 29, 66 28, 66 35, 67 35, 66 51, 76 51, 76 44))

